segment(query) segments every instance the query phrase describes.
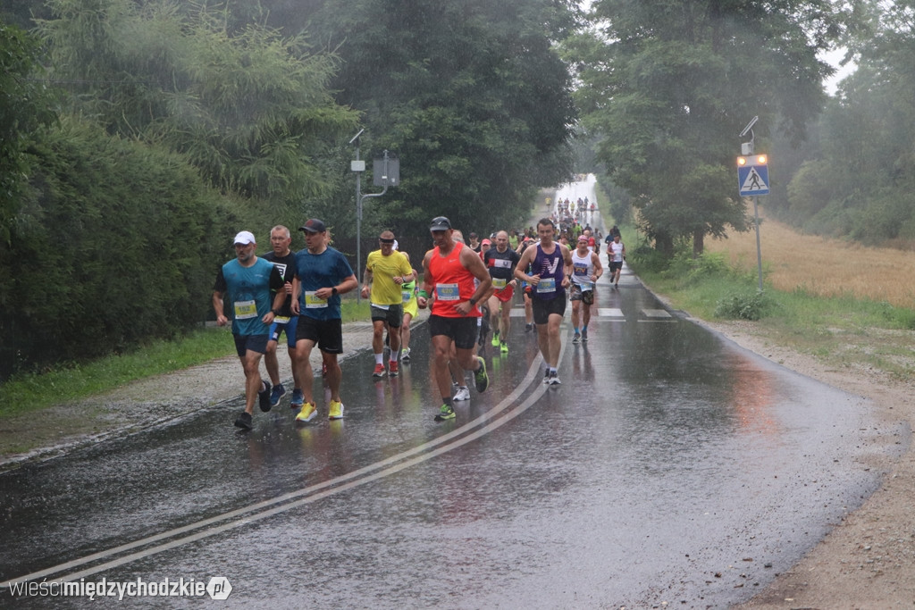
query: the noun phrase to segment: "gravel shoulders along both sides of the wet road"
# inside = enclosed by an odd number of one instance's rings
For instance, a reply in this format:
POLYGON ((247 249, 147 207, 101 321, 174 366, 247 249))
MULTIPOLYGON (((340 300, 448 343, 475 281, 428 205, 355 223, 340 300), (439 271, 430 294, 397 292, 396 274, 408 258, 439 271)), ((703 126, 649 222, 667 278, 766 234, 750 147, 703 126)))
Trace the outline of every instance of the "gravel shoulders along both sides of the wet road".
MULTIPOLYGON (((423 317, 422 319, 425 319, 423 317)), ((870 399, 877 416, 890 423, 912 421, 915 388, 867 369, 836 370, 813 356, 773 343, 759 326, 747 322, 694 322, 760 356, 815 380, 870 399)), ((346 354, 371 349, 371 323, 344 325, 346 354)), ((285 346, 279 349, 281 377, 291 378, 285 346)), ((320 367, 318 350, 312 367, 320 367)), ((262 365, 263 371, 263 365, 262 365)), ((237 400, 242 371, 235 357, 155 378, 136 381, 92 401, 62 404, 0 423, 0 471, 48 459, 86 444, 136 433, 189 412, 237 400), (64 431, 67 431, 66 433, 64 431), (18 452, 24 441, 40 449, 18 452)), ((227 415, 227 422, 231 417, 227 415)), ((915 457, 877 458, 887 472, 862 508, 837 524, 791 571, 741 609, 890 608, 915 605, 915 457)))

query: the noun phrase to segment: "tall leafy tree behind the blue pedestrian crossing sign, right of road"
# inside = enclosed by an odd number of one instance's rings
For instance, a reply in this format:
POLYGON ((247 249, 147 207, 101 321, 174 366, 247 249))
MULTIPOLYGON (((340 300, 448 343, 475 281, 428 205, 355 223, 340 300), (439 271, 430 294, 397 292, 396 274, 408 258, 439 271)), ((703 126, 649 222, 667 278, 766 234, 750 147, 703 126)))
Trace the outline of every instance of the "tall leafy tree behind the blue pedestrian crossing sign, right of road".
MULTIPOLYGON (((568 45, 598 157, 663 251, 745 230, 737 134, 759 116, 800 141, 824 102, 817 59, 842 31, 828 0, 597 0, 568 45), (778 124, 776 124, 778 122, 778 124)), ((775 163, 773 167, 777 167, 775 163)), ((777 176, 777 169, 773 175, 777 176)))

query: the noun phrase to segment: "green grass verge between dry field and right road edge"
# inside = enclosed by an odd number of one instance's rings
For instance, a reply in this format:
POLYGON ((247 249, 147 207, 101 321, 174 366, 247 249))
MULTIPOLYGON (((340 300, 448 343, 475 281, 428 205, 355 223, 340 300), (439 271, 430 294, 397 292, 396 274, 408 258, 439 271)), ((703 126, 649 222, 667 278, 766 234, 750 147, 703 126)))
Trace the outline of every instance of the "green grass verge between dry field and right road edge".
POLYGON ((728 266, 721 255, 678 255, 661 269, 642 255, 631 227, 623 228, 631 270, 675 309, 705 321, 746 320, 754 334, 836 370, 872 370, 898 380, 915 372, 915 310, 851 296, 826 297, 802 288, 758 289, 757 273, 728 266), (630 244, 635 244, 630 247, 630 244), (741 316, 746 314, 747 316, 741 316), (755 319, 754 319, 755 318, 755 319))

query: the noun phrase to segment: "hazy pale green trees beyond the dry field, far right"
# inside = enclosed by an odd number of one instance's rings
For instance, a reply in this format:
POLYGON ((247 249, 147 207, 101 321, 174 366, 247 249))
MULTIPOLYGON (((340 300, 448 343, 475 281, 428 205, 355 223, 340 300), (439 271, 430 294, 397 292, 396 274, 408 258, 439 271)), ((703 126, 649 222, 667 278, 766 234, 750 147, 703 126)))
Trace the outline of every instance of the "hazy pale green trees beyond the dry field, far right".
POLYGON ((910 246, 915 240, 915 2, 860 8, 847 38, 857 69, 823 112, 817 154, 791 181, 791 214, 806 230, 910 246))

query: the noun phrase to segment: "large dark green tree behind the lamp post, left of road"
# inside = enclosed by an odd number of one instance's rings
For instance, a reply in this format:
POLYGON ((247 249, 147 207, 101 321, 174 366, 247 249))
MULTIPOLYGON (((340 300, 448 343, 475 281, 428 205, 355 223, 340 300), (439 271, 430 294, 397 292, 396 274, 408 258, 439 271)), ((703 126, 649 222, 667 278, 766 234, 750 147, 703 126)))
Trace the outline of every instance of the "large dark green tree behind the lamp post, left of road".
POLYGON ((466 230, 517 226, 536 187, 570 175, 576 113, 554 40, 572 4, 326 3, 315 24, 344 60, 338 101, 364 112, 363 154, 400 157, 401 184, 377 204, 394 228, 425 232, 438 214, 466 230))

